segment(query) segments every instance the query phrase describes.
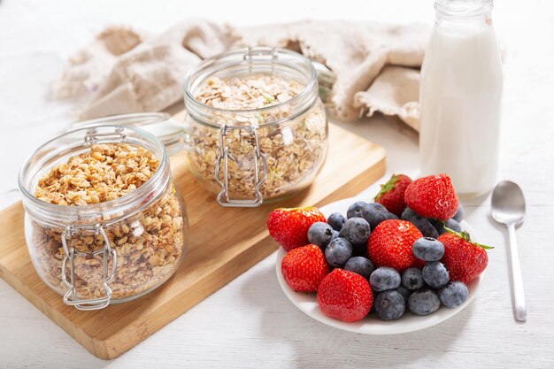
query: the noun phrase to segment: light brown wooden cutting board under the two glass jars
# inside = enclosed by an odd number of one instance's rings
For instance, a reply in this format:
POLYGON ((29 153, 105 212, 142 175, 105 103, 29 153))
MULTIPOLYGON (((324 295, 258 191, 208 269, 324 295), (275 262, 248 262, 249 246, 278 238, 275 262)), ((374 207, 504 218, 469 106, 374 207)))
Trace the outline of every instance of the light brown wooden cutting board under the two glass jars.
POLYGON ((276 250, 265 230, 273 208, 324 205, 354 196, 385 173, 380 146, 333 124, 329 141, 327 161, 310 188, 285 202, 250 209, 217 205, 215 196, 186 170, 184 154, 173 156, 173 179, 189 214, 189 250, 169 281, 135 301, 101 311, 63 304, 31 264, 20 203, 0 212, 0 276, 96 357, 118 357, 276 250))

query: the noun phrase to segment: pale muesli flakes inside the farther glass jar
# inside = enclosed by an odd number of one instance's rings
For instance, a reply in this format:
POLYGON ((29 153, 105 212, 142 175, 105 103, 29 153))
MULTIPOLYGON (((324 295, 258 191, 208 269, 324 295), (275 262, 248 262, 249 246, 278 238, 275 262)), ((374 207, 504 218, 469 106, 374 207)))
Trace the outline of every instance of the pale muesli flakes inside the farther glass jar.
MULTIPOLYGON (((325 109, 318 99, 307 111, 291 117, 294 104, 281 104, 303 90, 304 86, 295 80, 269 75, 228 80, 211 77, 198 88, 195 96, 198 102, 236 111, 232 115, 216 112, 212 117, 219 126, 239 127, 228 131, 224 139, 230 158, 228 185, 231 196, 251 198, 256 187, 255 140, 246 127, 257 127, 259 148, 267 158, 267 176, 261 187, 265 199, 289 194, 312 183, 327 152, 325 109), (273 105, 278 106, 250 112, 273 105), (279 123, 271 124, 273 122, 279 123)), ((220 152, 219 129, 194 121, 190 126, 194 147, 189 153, 190 169, 204 185, 218 191, 215 168, 220 152)), ((258 167, 262 167, 261 159, 258 159, 258 167)), ((263 175, 261 171, 259 178, 263 175)), ((222 173, 219 179, 223 180, 222 173)))

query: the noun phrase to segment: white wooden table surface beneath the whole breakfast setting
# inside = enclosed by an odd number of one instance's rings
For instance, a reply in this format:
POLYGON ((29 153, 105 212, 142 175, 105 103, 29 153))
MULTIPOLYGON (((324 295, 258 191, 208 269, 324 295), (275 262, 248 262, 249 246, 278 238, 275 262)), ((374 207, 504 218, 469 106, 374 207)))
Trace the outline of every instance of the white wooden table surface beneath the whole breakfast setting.
MULTIPOLYGON (((72 106, 48 101, 67 56, 106 24, 160 31, 204 17, 236 25, 293 19, 377 19, 432 23, 432 1, 0 2, 1 206, 24 158, 71 120, 72 106), (270 14, 269 16, 267 14, 270 14)), ((112 361, 97 359, 0 280, 0 367, 554 367, 554 16, 544 1, 497 2, 505 47, 501 177, 517 181, 528 216, 519 228, 528 321, 512 318, 507 237, 489 216, 490 196, 464 201, 466 219, 496 246, 479 296, 437 327, 365 336, 326 327, 289 303, 265 258, 235 281, 112 361)), ((340 50, 337 50, 340 52, 340 50)), ((382 118, 343 127, 388 150, 389 173, 414 173, 417 136, 382 118)), ((388 173, 388 174, 389 174, 388 173)))

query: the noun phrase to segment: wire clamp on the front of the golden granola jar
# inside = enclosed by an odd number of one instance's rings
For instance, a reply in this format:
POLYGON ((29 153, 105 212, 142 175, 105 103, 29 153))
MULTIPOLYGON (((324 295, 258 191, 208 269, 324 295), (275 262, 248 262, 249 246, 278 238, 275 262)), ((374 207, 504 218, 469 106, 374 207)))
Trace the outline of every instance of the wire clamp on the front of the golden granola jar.
POLYGON ((68 305, 73 305, 79 310, 98 310, 103 309, 104 307, 110 304, 112 299, 112 288, 108 286, 108 282, 112 281, 112 278, 115 276, 117 270, 117 254, 110 243, 108 234, 103 227, 99 224, 95 226, 95 236, 102 234, 104 238, 104 247, 102 249, 93 251, 93 252, 80 252, 75 250, 72 246, 71 248, 67 244, 67 240, 71 239, 74 228, 71 226, 65 227, 64 233, 61 235, 62 245, 64 247, 65 257, 62 262, 62 281, 64 281, 65 286, 69 289, 64 295, 64 303, 68 305), (104 296, 96 298, 80 298, 77 296, 77 290, 75 288, 75 257, 81 258, 95 258, 99 255, 102 255, 103 259, 103 288, 104 296), (112 270, 108 271, 109 258, 112 258, 112 270), (66 275, 67 262, 69 261, 69 278, 66 275), (109 272, 109 273, 108 273, 109 272))

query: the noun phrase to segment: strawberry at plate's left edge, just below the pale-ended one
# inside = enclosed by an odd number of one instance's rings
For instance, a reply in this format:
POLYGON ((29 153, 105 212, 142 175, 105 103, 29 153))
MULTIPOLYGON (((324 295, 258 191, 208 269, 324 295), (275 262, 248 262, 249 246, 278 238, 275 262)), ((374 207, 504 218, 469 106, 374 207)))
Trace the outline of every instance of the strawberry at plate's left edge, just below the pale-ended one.
POLYGON ((316 245, 290 250, 281 262, 281 273, 290 288, 300 292, 315 292, 329 273, 323 251, 316 245))

